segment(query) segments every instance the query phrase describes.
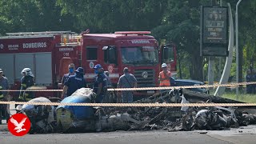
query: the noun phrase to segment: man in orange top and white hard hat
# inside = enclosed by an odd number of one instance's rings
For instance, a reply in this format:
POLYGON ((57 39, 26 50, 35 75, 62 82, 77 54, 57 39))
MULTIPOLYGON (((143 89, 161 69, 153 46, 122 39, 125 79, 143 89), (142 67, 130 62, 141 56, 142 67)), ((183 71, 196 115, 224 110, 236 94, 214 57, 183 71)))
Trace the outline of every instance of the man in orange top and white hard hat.
MULTIPOLYGON (((171 73, 169 70, 167 70, 166 63, 162 63, 162 71, 159 73, 159 86, 170 86, 170 76, 171 73)), ((160 90, 161 92, 164 92, 166 90, 160 90)))

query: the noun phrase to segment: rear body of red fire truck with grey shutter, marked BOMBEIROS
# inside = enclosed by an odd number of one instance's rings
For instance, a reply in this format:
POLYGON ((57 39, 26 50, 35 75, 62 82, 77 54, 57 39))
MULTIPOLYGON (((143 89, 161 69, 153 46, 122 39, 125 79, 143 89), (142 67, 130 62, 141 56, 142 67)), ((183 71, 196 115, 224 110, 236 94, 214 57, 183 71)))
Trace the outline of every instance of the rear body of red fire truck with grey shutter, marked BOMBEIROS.
MULTIPOLYGON (((58 88, 60 75, 67 73, 67 62, 78 62, 78 43, 62 43, 64 35, 70 31, 7 33, 0 37, 0 67, 8 78, 13 90, 20 89, 21 71, 29 67, 37 86, 48 89, 58 88)), ((80 49, 79 49, 80 50, 80 49)), ((76 63, 78 64, 78 63, 76 63)), ((56 93, 55 93, 56 94, 56 93)), ((50 97, 54 93, 36 93, 50 97)), ((18 92, 14 93, 18 96, 18 92)))

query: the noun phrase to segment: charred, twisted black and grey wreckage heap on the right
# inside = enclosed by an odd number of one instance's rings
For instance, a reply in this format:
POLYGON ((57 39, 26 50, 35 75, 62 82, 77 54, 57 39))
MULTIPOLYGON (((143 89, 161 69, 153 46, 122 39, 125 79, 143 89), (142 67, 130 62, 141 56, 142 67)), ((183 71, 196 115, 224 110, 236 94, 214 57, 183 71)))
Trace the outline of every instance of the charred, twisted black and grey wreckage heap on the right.
MULTIPOLYGON (((191 90, 170 90, 134 103, 242 103, 191 90)), ((127 130, 226 130, 256 124, 255 106, 241 107, 105 107, 106 115, 129 114, 134 122, 127 130)))

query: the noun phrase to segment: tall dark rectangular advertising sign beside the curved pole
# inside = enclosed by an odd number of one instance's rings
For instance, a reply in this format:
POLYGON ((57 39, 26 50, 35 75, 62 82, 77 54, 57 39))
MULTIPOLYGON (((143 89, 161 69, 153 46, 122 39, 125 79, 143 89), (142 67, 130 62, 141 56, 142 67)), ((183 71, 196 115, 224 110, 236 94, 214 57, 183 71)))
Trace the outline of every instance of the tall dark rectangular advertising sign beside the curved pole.
POLYGON ((201 9, 201 55, 228 55, 227 7, 202 6, 201 9))

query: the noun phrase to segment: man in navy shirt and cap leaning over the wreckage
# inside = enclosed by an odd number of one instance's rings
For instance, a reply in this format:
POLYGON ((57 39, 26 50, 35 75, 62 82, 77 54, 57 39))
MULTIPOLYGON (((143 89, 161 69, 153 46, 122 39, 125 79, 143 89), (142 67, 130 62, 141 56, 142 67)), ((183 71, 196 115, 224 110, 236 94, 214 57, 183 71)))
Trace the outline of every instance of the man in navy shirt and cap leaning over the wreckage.
POLYGON ((70 75, 69 78, 67 78, 66 82, 64 83, 63 91, 62 91, 62 99, 66 98, 66 96, 70 96, 73 94, 76 90, 86 87, 86 79, 83 78, 84 70, 82 67, 78 67, 77 70, 75 70, 74 75, 70 75))

